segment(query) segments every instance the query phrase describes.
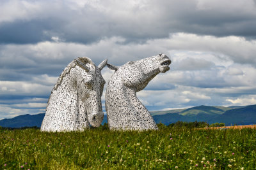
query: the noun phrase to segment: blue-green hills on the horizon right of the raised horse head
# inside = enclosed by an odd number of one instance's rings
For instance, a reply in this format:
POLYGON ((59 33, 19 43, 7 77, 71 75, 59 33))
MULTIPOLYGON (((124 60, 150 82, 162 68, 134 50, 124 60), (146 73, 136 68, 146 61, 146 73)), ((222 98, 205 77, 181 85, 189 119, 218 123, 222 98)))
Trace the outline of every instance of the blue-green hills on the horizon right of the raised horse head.
POLYGON ((223 122, 225 125, 249 125, 256 124, 256 105, 252 106, 196 106, 177 113, 165 113, 154 115, 156 123, 165 125, 182 122, 207 122, 214 124, 223 122))

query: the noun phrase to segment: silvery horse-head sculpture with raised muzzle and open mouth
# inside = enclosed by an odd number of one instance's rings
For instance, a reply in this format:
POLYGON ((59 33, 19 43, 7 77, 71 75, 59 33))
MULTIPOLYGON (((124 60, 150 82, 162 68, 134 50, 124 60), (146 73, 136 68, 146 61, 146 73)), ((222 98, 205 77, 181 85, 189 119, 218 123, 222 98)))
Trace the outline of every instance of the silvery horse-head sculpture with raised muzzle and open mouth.
POLYGON ((157 74, 165 73, 171 60, 164 54, 130 61, 116 67, 106 90, 106 111, 111 130, 157 130, 157 125, 148 110, 136 97, 157 74))

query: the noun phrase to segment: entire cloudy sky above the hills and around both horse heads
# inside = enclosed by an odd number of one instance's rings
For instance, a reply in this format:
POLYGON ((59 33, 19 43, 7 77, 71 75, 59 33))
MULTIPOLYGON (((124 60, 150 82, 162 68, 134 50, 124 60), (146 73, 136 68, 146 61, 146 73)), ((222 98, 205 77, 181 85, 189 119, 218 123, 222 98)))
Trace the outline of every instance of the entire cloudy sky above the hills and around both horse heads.
POLYGON ((159 53, 172 64, 137 93, 148 110, 256 104, 256 1, 1 0, 0 119, 45 113, 77 57, 122 66, 159 53))

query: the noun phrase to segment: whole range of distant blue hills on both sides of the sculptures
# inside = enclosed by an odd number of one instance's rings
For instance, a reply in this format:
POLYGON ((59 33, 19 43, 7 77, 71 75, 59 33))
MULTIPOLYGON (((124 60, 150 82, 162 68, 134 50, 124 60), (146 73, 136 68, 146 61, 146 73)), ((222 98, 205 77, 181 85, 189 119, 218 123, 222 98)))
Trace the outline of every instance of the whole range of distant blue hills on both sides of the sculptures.
MULTIPOLYGON (((256 105, 251 106, 196 106, 188 109, 150 112, 156 123, 169 125, 178 121, 182 122, 207 122, 214 124, 223 122, 225 125, 256 124, 256 105)), ((14 118, 0 120, 2 127, 40 127, 45 113, 38 115, 21 115, 14 118)), ((104 115, 102 124, 108 122, 104 115)))

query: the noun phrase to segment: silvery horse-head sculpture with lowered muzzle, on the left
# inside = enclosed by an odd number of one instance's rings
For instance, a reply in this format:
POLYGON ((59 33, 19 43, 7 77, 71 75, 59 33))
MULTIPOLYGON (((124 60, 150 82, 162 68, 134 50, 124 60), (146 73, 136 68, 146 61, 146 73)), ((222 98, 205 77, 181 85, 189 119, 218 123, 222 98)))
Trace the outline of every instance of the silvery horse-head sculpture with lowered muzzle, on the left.
POLYGON ((88 57, 79 57, 63 70, 52 89, 41 131, 83 131, 99 127, 104 118, 101 96, 105 80, 88 57), (90 124, 90 125, 89 125, 90 124))

